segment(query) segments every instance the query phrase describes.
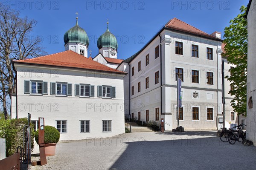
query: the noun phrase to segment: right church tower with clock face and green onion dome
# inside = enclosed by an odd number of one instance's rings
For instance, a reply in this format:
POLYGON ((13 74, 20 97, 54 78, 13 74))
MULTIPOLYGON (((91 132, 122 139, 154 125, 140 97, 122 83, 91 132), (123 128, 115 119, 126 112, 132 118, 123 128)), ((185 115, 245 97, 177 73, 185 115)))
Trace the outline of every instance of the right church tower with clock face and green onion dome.
POLYGON ((103 57, 117 58, 117 40, 116 37, 109 31, 108 25, 106 32, 99 37, 97 46, 103 57))

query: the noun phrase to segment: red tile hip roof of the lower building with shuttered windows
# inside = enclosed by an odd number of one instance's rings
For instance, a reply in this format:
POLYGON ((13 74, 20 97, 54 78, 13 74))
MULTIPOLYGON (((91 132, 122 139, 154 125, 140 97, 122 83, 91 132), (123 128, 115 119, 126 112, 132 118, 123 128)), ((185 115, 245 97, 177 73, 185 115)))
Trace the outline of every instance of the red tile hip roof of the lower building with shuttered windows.
POLYGON ((116 69, 112 69, 96 61, 90 60, 82 55, 77 54, 71 50, 58 52, 51 55, 45 55, 38 58, 31 58, 26 60, 13 61, 14 63, 24 64, 36 64, 36 65, 47 65, 47 66, 63 66, 80 69, 90 69, 104 72, 114 72, 126 74, 116 69))

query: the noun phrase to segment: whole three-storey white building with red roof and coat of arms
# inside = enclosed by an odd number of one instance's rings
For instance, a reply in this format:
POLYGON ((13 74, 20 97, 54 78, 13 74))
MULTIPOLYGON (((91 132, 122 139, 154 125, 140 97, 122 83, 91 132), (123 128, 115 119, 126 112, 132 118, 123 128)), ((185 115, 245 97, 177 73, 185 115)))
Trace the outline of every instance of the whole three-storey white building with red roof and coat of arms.
MULTIPOLYGON (((125 95, 130 96, 127 104, 131 118, 159 123, 163 118, 165 130, 176 128, 178 75, 183 106, 179 125, 186 130, 220 129, 221 44, 219 32, 209 35, 177 18, 170 20, 143 49, 117 68, 129 66, 130 84, 125 89, 130 90, 125 95)), ((228 127, 229 121, 226 118, 228 127)))

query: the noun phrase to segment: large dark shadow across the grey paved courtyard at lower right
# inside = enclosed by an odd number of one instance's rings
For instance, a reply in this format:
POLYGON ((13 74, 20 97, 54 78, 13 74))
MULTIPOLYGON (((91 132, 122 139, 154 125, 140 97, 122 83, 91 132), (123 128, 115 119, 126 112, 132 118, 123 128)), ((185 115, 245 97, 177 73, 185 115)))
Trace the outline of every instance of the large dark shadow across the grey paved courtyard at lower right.
MULTIPOLYGON (((206 135, 209 134, 211 133, 206 133, 206 135)), ((115 161, 111 169, 226 170, 233 169, 235 166, 236 169, 255 170, 256 147, 244 146, 241 143, 231 145, 221 142, 217 137, 175 139, 177 137, 167 141, 128 142, 126 150, 115 161), (239 160, 238 155, 242 156, 239 160), (223 158, 225 158, 224 161, 223 158)))

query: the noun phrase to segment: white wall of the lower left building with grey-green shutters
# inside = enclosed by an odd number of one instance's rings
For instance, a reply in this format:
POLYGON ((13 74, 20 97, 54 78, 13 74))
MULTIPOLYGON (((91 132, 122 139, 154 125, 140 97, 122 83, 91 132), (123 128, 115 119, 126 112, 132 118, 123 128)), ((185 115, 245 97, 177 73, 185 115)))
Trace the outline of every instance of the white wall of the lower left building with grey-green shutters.
MULTIPOLYGON (((52 68, 15 64, 17 69, 18 118, 31 113, 31 120, 45 118, 45 125, 56 127, 56 120, 67 120, 67 133, 60 140, 110 137, 124 130, 124 75, 89 72, 81 69, 52 68), (48 82, 48 95, 24 94, 24 81, 48 82), (72 96, 50 95, 50 82, 72 83, 72 96), (75 84, 94 85, 94 96, 75 96, 75 84), (116 87, 116 98, 97 96, 97 86, 116 87), (80 120, 90 120, 90 133, 80 133, 80 120), (111 120, 111 132, 102 132, 102 120, 111 120)), ((12 118, 16 117, 16 100, 12 100, 12 118)))

